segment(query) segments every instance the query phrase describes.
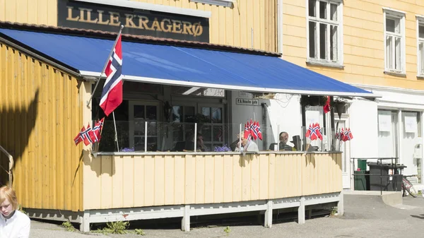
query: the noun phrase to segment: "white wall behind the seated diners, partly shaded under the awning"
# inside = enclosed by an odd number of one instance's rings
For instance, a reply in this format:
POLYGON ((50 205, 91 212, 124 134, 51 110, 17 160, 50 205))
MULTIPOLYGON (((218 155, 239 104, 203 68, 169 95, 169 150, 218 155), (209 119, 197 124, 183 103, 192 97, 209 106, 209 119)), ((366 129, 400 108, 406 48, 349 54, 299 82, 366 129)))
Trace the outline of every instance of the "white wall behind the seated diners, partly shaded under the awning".
MULTIPOLYGON (((261 131, 266 138, 264 141, 257 141, 259 150, 267 150, 271 143, 278 141, 278 126, 281 131, 288 132, 291 141, 292 136, 300 135, 300 127, 302 126, 302 115, 300 112, 300 104, 298 95, 276 94, 275 99, 259 99, 259 106, 236 105, 237 98, 252 99, 252 95, 248 97, 240 97, 240 92, 232 91, 231 107, 232 107, 232 131, 235 131, 232 141, 235 140, 235 134, 238 133, 240 123, 244 130, 247 120, 254 120, 254 116, 261 124, 261 131), (264 121, 261 103, 266 103, 266 121, 264 121), (266 144, 264 144, 266 143, 266 144)), ((293 144, 291 144, 293 146, 293 144)))

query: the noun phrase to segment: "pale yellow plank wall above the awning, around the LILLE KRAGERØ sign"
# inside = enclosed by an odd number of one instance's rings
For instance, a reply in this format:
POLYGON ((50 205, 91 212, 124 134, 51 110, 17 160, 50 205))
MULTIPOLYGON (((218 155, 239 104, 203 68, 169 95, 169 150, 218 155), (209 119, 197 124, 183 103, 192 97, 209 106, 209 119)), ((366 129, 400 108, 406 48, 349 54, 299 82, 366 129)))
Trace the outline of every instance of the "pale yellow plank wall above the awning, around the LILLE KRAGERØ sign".
MULTIPOLYGON (((137 1, 137 0, 131 0, 137 1)), ((210 11, 210 42, 277 51, 277 0, 237 0, 232 7, 189 0, 138 0, 150 4, 210 11), (252 37, 253 29, 253 37, 252 37), (253 42, 252 42, 253 39, 253 42)), ((0 20, 57 26, 56 0, 0 0, 0 20)))

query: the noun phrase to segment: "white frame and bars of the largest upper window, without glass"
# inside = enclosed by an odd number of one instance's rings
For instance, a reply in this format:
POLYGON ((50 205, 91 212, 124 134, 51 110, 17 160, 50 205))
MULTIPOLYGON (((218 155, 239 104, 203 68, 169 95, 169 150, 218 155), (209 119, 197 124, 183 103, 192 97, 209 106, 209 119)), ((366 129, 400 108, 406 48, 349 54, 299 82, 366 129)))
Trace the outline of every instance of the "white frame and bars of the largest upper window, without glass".
MULTIPOLYGON (((334 20, 324 20, 317 17, 309 16, 309 0, 306 0, 306 52, 307 52, 307 64, 319 65, 319 66, 329 66, 336 68, 343 68, 343 1, 342 0, 316 0, 315 7, 319 8, 319 1, 324 1, 327 4, 337 4, 337 21, 334 20), (331 25, 337 25, 338 35, 337 35, 337 61, 331 61, 330 59, 319 59, 319 33, 316 41, 315 50, 317 50, 317 58, 310 57, 310 37, 309 37, 309 22, 310 20, 314 21, 319 25, 319 23, 330 23, 331 25)), ((326 15, 330 16, 331 7, 327 7, 326 15)), ((319 15, 319 11, 317 12, 319 15)), ((330 30, 326 32, 328 39, 330 39, 330 30)), ((326 45, 326 54, 330 54, 330 40, 326 45)))

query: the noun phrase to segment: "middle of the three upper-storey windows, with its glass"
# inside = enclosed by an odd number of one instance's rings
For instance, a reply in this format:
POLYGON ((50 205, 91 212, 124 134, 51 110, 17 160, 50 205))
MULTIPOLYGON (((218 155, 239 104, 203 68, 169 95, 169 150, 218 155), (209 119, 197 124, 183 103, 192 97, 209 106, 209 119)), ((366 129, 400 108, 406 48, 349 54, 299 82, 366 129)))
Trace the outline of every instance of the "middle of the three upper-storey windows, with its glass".
POLYGON ((384 9, 385 71, 405 73, 405 14, 384 9))

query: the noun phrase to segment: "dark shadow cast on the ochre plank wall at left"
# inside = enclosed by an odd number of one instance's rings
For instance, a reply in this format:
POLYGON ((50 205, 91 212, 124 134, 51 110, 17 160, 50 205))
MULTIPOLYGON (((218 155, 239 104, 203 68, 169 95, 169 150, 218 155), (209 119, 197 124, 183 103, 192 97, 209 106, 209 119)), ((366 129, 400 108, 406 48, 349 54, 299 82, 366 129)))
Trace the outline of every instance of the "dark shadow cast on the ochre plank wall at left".
MULTIPOLYGON (((36 90, 33 100, 28 107, 5 105, 0 102, 0 145, 13 156, 15 164, 21 160, 25 148, 28 146, 30 134, 35 128, 38 113, 39 89, 36 90)), ((15 104, 16 105, 16 104, 15 104)), ((28 151, 31 153, 31 151, 28 151)), ((8 184, 8 157, 0 154, 0 185, 8 184)))

